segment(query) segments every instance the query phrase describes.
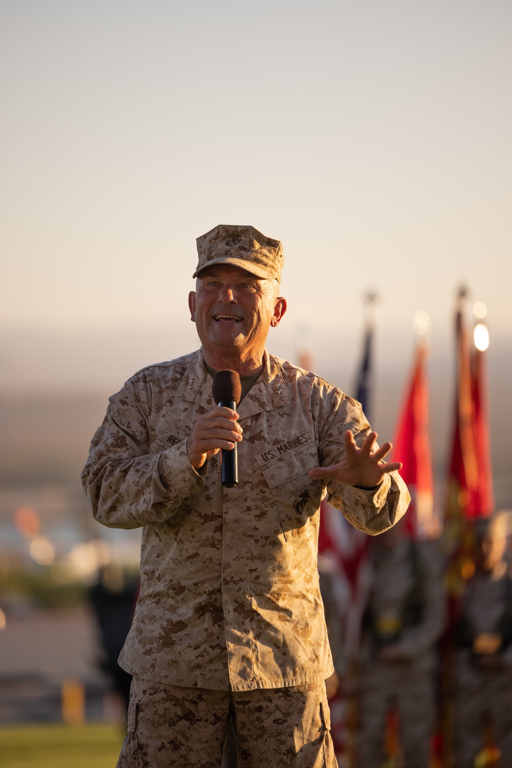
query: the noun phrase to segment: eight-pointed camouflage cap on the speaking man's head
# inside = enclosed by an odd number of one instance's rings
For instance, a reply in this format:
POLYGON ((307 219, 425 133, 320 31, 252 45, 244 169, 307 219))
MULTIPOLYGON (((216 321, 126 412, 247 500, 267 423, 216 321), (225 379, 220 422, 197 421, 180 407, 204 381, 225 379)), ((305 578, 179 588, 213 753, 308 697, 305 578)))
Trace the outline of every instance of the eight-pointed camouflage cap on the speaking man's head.
POLYGON ((233 264, 258 277, 281 280, 284 255, 279 240, 254 227, 218 224, 197 238, 199 261, 193 277, 210 264, 233 264))

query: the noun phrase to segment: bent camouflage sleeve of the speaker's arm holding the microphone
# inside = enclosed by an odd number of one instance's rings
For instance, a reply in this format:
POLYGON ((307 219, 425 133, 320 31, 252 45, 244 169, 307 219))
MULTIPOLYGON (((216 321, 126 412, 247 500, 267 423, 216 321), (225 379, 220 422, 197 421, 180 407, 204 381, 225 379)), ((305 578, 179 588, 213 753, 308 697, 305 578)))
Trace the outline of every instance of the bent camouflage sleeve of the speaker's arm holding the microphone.
POLYGON ((130 387, 110 399, 81 474, 94 518, 109 528, 139 528, 172 517, 205 480, 187 456, 186 441, 150 449, 144 402, 130 387))

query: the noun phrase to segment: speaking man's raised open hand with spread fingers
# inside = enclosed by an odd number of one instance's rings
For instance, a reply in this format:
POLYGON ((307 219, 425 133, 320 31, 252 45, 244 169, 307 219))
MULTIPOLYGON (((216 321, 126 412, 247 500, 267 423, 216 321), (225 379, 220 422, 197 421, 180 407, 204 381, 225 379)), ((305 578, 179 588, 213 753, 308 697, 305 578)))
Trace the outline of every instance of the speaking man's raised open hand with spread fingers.
POLYGON ((401 462, 385 464, 383 458, 391 451, 390 442, 385 442, 372 453, 377 439, 377 432, 370 432, 361 448, 355 444, 354 435, 348 429, 343 435, 345 455, 339 464, 330 467, 315 467, 309 470, 309 477, 334 480, 342 485, 358 485, 363 488, 375 488, 380 485, 384 475, 401 469, 401 462))

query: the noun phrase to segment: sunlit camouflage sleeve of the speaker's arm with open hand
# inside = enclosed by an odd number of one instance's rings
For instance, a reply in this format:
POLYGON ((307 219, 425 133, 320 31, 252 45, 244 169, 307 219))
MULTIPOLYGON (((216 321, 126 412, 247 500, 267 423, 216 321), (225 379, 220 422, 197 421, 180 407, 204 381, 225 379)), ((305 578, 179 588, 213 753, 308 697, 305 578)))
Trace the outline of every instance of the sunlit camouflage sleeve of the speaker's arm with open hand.
MULTIPOLYGON (((354 433, 358 447, 371 432, 361 405, 339 389, 334 389, 329 415, 320 435, 319 458, 322 467, 337 464, 341 460, 345 453, 343 435, 347 429, 354 433)), ((327 492, 333 507, 341 510, 355 528, 372 536, 395 525, 411 501, 407 486, 398 472, 385 475, 382 483, 371 490, 328 481, 327 492)))

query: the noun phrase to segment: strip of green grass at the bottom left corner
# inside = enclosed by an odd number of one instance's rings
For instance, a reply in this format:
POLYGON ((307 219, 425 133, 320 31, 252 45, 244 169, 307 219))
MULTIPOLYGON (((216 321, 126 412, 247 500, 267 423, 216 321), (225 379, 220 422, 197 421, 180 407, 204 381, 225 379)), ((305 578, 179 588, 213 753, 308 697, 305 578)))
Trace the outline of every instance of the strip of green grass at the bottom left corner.
POLYGON ((124 734, 108 725, 0 728, 2 768, 115 768, 124 734))

